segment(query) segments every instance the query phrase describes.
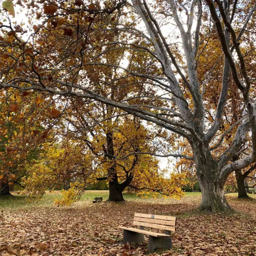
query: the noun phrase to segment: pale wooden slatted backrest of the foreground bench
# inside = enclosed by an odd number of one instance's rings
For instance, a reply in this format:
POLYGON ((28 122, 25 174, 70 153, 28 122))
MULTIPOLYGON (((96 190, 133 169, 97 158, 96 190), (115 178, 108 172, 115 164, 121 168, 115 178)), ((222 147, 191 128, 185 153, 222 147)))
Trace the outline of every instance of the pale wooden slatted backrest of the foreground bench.
POLYGON ((176 231, 176 222, 177 217, 135 213, 133 224, 143 227, 176 231))

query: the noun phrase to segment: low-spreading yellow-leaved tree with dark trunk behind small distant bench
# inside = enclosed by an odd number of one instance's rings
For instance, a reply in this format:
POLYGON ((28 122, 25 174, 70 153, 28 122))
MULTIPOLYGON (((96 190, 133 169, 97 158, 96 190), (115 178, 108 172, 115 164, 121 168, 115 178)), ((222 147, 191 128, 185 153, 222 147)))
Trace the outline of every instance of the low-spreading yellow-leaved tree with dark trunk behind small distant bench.
POLYGON ((110 149, 106 126, 94 129, 95 136, 91 140, 86 136, 83 140, 77 138, 78 133, 75 132, 76 138, 70 133, 69 139, 64 137, 60 143, 48 145, 48 148, 44 145, 46 151, 39 160, 26 166, 27 176, 22 183, 24 193, 40 198, 45 190, 59 188, 69 180, 70 190, 64 193, 64 202, 58 202, 69 205, 80 198, 87 186, 105 180, 109 183, 109 201, 124 201, 122 192, 126 187, 133 188, 140 196, 155 197, 160 193, 182 197, 184 193, 181 187, 188 184, 184 174, 161 171, 159 161, 150 155, 150 151, 136 154, 134 148, 138 147, 143 152, 149 150, 150 144, 146 142, 145 128, 142 125, 136 127, 135 124, 128 119, 119 126, 112 125, 113 144, 110 149), (111 153, 111 156, 107 153, 111 153))

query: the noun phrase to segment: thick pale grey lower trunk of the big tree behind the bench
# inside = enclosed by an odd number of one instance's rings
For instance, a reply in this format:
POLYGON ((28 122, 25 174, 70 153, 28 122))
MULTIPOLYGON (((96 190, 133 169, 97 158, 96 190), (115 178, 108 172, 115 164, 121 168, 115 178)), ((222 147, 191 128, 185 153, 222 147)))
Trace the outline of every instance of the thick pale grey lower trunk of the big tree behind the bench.
POLYGON ((217 162, 212 159, 208 147, 193 147, 197 178, 202 192, 200 210, 211 212, 232 211, 224 194, 225 178, 220 177, 217 162))

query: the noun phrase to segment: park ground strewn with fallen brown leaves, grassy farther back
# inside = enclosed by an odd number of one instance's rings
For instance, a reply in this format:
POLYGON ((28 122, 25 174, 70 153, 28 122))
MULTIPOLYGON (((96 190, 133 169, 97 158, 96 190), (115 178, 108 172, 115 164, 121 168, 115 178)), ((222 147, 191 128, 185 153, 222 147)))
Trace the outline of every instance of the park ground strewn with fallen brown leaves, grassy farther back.
POLYGON ((44 203, 25 206, 19 198, 14 205, 0 200, 0 255, 256 255, 256 195, 246 200, 228 195, 237 213, 224 216, 196 213, 200 193, 181 200, 126 195, 126 202, 97 204, 91 203, 92 193, 97 192, 85 192, 83 200, 70 208, 55 207, 52 194, 44 203), (123 245, 117 227, 132 226, 135 212, 177 216, 173 250, 149 254, 147 239, 141 245, 123 245))

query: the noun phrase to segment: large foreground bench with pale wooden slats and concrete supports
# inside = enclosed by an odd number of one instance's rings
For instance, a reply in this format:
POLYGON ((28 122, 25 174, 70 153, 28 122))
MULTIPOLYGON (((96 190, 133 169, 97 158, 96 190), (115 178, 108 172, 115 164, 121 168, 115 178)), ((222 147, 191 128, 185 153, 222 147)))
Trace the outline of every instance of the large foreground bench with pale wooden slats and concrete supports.
POLYGON ((176 222, 177 218, 172 216, 135 213, 133 224, 139 225, 140 229, 123 226, 118 226, 118 228, 124 230, 124 244, 143 242, 144 235, 148 235, 149 251, 153 252, 155 248, 172 249, 172 231, 176 231, 176 222), (148 231, 145 227, 162 229, 165 233, 148 231))

